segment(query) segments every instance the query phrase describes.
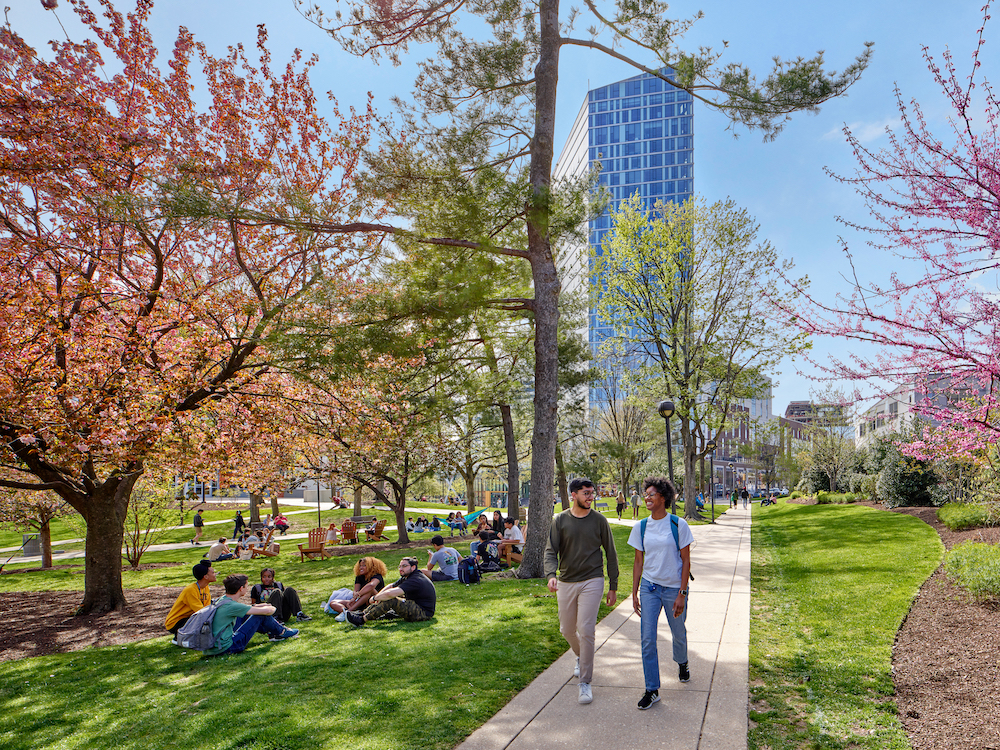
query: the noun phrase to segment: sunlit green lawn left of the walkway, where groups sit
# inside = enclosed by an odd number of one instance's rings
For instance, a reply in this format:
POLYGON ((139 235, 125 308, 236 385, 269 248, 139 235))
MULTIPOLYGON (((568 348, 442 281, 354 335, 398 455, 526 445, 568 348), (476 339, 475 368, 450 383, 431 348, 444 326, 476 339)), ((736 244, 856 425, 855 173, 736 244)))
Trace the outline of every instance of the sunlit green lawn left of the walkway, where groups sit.
MULTIPOLYGON (((627 592, 630 528, 612 531, 618 589, 627 592)), ((456 546, 464 552, 466 544, 456 546)), ((402 554, 380 557, 393 571, 402 554)), ((192 556, 184 549, 148 559, 192 556)), ((0 748, 451 748, 566 650, 555 597, 540 579, 439 584, 430 622, 360 630, 334 622, 319 608, 331 590, 351 584, 355 560, 300 563, 282 553, 266 563, 218 564, 220 573, 251 580, 271 565, 298 589, 315 619, 292 641, 257 636, 243 654, 205 658, 170 646, 164 635, 3 664, 0 710, 16 721, 0 729, 0 748)), ((190 581, 187 565, 124 575, 127 588, 190 581)), ((82 587, 83 575, 66 571, 0 577, 0 591, 82 587)), ((602 605, 600 616, 609 611, 602 605)))

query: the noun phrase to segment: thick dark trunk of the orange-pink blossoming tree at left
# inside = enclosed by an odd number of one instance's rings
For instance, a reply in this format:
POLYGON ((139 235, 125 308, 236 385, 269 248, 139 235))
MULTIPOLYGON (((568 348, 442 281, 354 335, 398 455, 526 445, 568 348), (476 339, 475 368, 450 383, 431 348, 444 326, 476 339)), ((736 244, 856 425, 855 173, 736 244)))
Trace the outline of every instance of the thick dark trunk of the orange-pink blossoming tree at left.
POLYGON ((103 614, 128 606, 122 590, 122 539, 128 499, 141 473, 109 479, 91 495, 70 501, 87 522, 87 565, 78 615, 103 614))

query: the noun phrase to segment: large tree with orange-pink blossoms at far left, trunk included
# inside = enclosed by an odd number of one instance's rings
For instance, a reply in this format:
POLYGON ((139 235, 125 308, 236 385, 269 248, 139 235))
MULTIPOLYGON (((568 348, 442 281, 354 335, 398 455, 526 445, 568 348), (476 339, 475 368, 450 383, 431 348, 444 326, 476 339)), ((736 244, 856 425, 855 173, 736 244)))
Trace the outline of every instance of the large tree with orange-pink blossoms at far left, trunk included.
POLYGON ((315 60, 273 70, 263 28, 256 61, 216 57, 181 28, 164 72, 152 3, 100 4, 103 18, 73 4, 94 38, 50 59, 0 29, 0 487, 83 516, 81 613, 126 605, 125 509, 164 437, 252 390, 267 337, 373 252, 252 218, 306 200, 327 221, 366 210, 370 113, 324 119, 315 60))

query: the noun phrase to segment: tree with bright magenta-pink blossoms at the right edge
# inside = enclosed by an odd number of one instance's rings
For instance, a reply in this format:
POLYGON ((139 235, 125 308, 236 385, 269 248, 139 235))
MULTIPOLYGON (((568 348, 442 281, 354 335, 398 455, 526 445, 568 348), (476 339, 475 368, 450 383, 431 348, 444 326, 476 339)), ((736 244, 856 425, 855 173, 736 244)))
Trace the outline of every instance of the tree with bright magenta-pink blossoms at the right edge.
POLYGON ((916 381, 933 396, 915 406, 940 423, 905 448, 917 458, 984 455, 1000 440, 1000 101, 980 64, 988 12, 989 3, 967 72, 950 51, 935 58, 924 48, 949 107, 944 125, 932 128, 897 90, 899 126, 886 147, 869 149, 845 128, 859 166, 832 176, 862 196, 870 219, 843 221, 867 233, 872 250, 899 258, 901 272, 862 279, 845 249, 852 293, 831 301, 795 285, 798 302, 784 305, 803 331, 876 347, 875 356, 826 364, 831 376, 916 381))

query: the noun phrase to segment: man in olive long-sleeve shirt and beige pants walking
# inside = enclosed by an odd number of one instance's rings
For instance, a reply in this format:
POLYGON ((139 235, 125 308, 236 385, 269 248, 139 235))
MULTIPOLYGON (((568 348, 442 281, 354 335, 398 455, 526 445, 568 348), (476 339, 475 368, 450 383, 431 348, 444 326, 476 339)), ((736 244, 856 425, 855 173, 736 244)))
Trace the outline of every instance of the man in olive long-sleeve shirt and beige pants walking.
POLYGON ((609 607, 618 598, 618 553, 611 526, 591 512, 594 483, 578 478, 569 483, 573 504, 552 520, 545 545, 545 577, 559 602, 559 630, 576 654, 580 703, 590 703, 593 692, 594 641, 597 611, 604 593, 604 556, 608 558, 609 607), (604 549, 604 556, 601 554, 604 549), (558 570, 558 578, 556 571, 558 570))

